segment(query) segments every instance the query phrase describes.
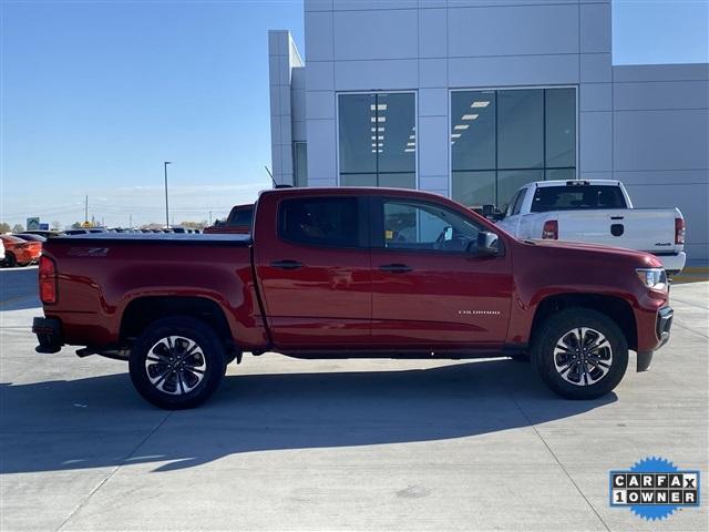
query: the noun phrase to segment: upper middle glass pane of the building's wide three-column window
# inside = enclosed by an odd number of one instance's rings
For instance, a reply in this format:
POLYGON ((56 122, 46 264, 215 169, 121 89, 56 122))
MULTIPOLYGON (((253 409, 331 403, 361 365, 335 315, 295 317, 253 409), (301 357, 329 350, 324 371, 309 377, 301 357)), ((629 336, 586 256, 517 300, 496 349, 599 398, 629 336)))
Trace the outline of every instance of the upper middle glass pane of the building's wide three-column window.
POLYGON ((497 91, 497 167, 544 167, 544 91, 497 91))

